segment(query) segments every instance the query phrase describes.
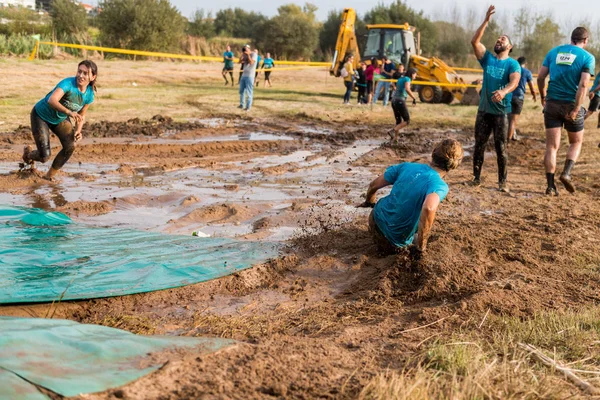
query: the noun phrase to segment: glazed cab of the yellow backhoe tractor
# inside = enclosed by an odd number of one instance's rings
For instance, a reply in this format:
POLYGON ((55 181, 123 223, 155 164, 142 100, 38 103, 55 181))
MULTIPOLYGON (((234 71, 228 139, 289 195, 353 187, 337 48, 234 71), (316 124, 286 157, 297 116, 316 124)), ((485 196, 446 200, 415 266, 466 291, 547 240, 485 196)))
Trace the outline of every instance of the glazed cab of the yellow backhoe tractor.
POLYGON ((381 60, 383 56, 395 64, 402 64, 408 68, 410 58, 418 55, 417 43, 413 32, 415 28, 409 24, 404 25, 367 25, 369 35, 367 45, 363 52, 363 60, 376 57, 381 60))

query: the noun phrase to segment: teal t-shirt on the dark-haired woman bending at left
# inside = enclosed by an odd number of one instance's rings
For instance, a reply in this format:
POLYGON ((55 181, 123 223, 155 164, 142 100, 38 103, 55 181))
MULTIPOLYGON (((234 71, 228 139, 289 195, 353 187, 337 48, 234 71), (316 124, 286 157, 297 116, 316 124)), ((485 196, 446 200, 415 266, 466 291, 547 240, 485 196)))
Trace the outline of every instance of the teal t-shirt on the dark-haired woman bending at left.
POLYGON ((49 124, 58 125, 67 119, 67 114, 55 110, 48 104, 50 96, 52 96, 52 93, 58 88, 65 92, 63 97, 59 100, 60 104, 73 112, 79 112, 86 104, 92 104, 94 102, 94 90, 91 85, 88 85, 85 93, 82 93, 77 88, 77 78, 65 78, 60 81, 46 97, 38 101, 35 105, 35 112, 41 119, 49 124))

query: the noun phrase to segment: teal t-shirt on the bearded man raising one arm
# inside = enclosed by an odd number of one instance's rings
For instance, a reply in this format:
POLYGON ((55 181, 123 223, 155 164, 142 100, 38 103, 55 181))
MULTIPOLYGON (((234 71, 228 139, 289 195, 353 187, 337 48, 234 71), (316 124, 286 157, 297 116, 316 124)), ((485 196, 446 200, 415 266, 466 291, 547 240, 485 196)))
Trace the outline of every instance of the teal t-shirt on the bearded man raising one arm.
POLYGON ((492 101, 492 96, 496 90, 504 89, 510 81, 510 74, 521 73, 521 66, 517 60, 506 58, 499 60, 489 51, 479 60, 483 68, 483 85, 481 87, 481 99, 479 100, 479 111, 488 114, 501 115, 510 114, 512 107, 512 93, 507 94, 499 103, 492 101))

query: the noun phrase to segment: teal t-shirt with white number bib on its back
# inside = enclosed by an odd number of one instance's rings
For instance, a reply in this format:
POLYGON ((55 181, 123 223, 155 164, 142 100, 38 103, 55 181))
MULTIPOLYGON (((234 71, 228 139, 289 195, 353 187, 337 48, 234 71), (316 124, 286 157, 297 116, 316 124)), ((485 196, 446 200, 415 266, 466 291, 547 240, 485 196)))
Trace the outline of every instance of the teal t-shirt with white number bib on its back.
POLYGON ((594 76, 596 59, 581 47, 563 44, 550 50, 542 65, 550 71, 546 98, 575 102, 581 73, 594 76))

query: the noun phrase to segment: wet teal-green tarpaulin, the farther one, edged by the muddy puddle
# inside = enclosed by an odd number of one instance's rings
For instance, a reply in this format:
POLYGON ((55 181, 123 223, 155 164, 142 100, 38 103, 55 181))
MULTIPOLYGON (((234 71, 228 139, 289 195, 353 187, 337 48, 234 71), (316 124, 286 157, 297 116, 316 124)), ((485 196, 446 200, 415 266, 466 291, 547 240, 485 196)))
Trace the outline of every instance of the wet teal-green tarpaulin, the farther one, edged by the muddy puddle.
POLYGON ((91 299, 185 286, 278 254, 278 245, 72 223, 0 206, 0 304, 91 299))

